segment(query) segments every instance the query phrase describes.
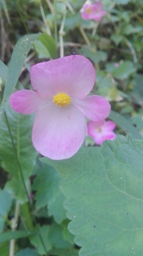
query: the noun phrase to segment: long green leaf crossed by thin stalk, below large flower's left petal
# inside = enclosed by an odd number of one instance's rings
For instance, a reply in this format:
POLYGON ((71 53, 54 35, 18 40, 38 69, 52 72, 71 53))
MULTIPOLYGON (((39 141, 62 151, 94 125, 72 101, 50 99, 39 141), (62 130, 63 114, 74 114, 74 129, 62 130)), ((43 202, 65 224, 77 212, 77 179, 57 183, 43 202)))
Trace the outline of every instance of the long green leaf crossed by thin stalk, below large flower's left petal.
MULTIPOLYGON (((30 177, 32 173, 33 166, 36 163, 38 154, 35 151, 31 140, 33 117, 32 115, 20 115, 10 107, 7 108, 6 113, 23 177, 25 182, 27 182, 28 177, 30 177)), ((2 159, 3 168, 10 173, 12 178, 12 180, 7 183, 6 188, 10 191, 12 189, 17 200, 23 203, 26 201, 26 195, 21 182, 19 166, 8 127, 5 123, 5 118, 1 121, 0 126, 0 158, 2 159)))

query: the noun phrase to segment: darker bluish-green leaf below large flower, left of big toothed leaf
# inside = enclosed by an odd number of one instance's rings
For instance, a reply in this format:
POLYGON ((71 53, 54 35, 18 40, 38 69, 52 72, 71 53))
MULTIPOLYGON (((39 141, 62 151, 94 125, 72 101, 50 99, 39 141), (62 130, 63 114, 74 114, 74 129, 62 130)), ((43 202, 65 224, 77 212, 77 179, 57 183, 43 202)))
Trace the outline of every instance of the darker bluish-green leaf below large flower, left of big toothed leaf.
POLYGON ((57 223, 66 219, 64 196, 59 188, 60 181, 61 177, 53 167, 42 164, 33 183, 33 190, 36 190, 36 207, 47 206, 48 215, 53 216, 57 223))

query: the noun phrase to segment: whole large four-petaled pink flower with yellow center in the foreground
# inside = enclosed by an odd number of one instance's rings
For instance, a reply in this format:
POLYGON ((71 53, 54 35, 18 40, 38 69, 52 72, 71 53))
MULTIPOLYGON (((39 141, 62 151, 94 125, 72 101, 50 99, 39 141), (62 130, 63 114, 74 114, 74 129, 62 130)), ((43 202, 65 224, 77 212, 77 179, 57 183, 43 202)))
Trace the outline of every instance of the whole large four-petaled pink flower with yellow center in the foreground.
POLYGON ((85 117, 99 121, 110 112, 106 99, 87 96, 95 83, 92 62, 70 55, 38 63, 30 75, 34 91, 13 93, 11 107, 26 115, 37 112, 32 141, 39 153, 54 160, 70 158, 84 141, 85 117))

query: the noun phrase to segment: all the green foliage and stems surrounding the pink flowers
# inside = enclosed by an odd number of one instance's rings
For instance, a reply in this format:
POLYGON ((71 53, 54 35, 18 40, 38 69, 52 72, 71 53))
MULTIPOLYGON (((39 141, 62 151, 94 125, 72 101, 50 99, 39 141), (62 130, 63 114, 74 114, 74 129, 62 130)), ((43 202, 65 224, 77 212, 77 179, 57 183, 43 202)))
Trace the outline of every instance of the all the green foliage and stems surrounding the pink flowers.
POLYGON ((102 0, 106 16, 95 23, 81 18, 84 2, 0 2, 4 256, 12 243, 16 256, 142 254, 143 3, 102 0), (87 136, 75 156, 52 161, 39 156, 32 145, 34 116, 12 111, 9 97, 15 88, 31 89, 34 63, 60 56, 64 18, 64 55, 74 49, 93 62, 92 93, 110 101, 109 119, 117 124, 117 139, 97 147, 87 136))

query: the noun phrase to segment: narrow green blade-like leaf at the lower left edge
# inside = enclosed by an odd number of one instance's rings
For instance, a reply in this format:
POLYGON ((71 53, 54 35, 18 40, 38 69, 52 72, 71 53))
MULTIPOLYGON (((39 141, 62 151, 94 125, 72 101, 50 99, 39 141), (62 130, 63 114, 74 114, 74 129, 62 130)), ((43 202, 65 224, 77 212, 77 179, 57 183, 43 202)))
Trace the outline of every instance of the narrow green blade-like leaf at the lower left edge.
POLYGON ((36 231, 24 231, 24 230, 8 231, 0 234, 0 243, 9 241, 11 239, 27 238, 27 237, 33 236, 35 233, 36 231))

